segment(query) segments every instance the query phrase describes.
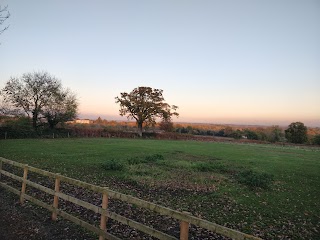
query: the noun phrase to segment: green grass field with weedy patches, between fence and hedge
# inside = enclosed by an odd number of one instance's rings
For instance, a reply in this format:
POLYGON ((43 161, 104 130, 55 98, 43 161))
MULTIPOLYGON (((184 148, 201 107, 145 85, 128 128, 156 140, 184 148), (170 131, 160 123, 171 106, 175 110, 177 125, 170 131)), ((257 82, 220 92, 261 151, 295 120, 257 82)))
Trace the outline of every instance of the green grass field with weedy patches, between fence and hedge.
POLYGON ((320 239, 320 149, 129 139, 1 140, 0 156, 266 239, 320 239))

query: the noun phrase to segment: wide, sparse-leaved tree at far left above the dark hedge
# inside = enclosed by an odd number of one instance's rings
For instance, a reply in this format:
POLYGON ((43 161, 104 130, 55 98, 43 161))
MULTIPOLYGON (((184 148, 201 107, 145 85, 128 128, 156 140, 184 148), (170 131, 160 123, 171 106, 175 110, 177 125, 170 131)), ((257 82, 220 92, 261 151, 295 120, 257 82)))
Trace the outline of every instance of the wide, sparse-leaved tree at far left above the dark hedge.
POLYGON ((10 78, 2 89, 4 101, 32 118, 37 128, 48 122, 54 127, 60 121, 76 117, 77 99, 61 82, 47 72, 25 73, 10 78))

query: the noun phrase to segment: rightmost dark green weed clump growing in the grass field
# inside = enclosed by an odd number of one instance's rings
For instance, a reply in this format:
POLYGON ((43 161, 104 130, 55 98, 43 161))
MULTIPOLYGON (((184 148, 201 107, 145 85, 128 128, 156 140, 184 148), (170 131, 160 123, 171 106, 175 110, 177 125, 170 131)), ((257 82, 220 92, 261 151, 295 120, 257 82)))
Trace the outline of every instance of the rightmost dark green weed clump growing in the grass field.
POLYGON ((258 173, 252 170, 245 170, 236 175, 239 183, 250 188, 269 189, 273 182, 273 175, 267 173, 258 173))

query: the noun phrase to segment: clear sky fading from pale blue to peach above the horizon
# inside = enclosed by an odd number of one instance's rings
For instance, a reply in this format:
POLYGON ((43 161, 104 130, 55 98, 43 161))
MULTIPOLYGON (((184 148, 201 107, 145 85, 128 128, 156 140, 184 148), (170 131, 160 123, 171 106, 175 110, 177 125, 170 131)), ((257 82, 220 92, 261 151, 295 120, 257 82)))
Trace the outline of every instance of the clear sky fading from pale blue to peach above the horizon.
POLYGON ((115 97, 162 89, 175 122, 320 127, 318 0, 0 0, 0 88, 47 71, 79 117, 125 120, 115 97))

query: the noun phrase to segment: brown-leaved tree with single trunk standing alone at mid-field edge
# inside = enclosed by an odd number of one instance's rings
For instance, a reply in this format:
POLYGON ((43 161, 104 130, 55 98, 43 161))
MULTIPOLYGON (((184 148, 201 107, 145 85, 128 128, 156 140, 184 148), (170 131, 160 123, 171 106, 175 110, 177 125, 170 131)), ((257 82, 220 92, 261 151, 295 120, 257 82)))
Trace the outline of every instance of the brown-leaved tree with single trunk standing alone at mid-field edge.
POLYGON ((170 120, 172 116, 179 116, 178 107, 165 102, 163 90, 151 87, 137 87, 130 93, 122 92, 116 97, 120 104, 120 115, 128 119, 135 119, 139 136, 142 136, 143 124, 154 125, 157 118, 170 120))

